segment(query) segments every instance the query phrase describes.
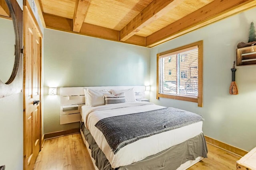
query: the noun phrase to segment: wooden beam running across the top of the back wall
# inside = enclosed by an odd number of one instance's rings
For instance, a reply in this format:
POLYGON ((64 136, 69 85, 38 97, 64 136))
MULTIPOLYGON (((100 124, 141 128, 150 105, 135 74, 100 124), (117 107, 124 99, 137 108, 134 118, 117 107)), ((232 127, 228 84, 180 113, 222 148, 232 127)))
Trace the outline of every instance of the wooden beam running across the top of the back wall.
MULTIPOLYGON (((43 16, 44 16, 46 28, 66 31, 70 33, 77 33, 80 35, 88 35, 91 37, 108 39, 112 41, 119 41, 119 31, 114 29, 100 27, 97 25, 89 24, 89 23, 82 23, 80 32, 78 33, 73 31, 72 19, 63 18, 60 16, 54 16, 52 14, 47 14, 47 13, 44 13, 43 16)), ((123 41, 119 41, 119 42, 123 42, 123 41)), ((146 38, 138 35, 134 35, 127 41, 124 41, 123 43, 134 44, 134 45, 145 47, 146 38)))

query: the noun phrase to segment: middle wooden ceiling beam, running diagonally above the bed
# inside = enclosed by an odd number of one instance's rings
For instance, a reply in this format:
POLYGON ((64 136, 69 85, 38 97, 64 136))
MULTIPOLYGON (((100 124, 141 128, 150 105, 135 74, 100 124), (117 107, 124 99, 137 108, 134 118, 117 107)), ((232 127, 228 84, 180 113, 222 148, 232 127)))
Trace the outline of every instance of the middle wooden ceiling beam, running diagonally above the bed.
POLYGON ((148 24, 181 4, 183 0, 153 0, 120 31, 120 41, 126 41, 148 24))

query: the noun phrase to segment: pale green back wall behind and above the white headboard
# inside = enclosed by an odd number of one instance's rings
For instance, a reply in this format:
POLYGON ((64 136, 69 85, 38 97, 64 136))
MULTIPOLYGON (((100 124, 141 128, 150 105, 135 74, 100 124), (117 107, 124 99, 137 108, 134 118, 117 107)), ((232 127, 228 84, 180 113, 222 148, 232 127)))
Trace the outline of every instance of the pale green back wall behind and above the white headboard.
POLYGON ((60 125, 60 97, 48 87, 136 86, 150 82, 150 49, 44 29, 44 133, 79 127, 60 125))

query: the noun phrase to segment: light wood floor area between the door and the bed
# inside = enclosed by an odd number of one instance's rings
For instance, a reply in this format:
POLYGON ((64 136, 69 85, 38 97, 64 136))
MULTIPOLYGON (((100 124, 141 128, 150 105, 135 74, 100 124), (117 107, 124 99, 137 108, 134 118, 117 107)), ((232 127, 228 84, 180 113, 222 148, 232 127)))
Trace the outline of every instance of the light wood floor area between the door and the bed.
POLYGON ((94 170, 81 134, 48 139, 34 170, 94 170))

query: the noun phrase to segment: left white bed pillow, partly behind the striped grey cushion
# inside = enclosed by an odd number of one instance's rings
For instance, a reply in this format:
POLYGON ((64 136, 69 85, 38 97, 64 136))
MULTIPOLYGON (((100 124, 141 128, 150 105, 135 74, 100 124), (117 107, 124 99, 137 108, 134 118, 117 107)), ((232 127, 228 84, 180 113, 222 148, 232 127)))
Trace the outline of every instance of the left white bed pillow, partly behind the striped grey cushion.
POLYGON ((107 90, 84 89, 85 103, 88 106, 101 106, 105 104, 104 94, 110 94, 107 90))

